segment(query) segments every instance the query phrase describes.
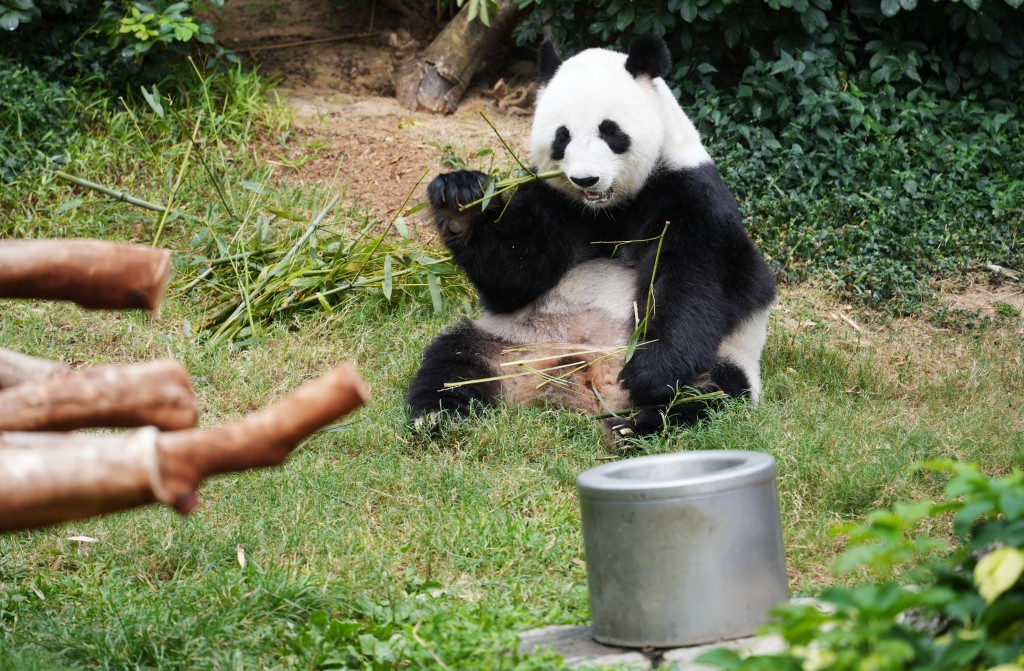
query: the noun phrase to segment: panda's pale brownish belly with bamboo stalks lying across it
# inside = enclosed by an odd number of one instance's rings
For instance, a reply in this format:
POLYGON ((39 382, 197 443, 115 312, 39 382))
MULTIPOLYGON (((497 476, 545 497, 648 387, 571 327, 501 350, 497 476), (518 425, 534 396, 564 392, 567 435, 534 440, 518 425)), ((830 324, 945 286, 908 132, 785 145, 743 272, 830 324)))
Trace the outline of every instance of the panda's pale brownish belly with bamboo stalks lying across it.
POLYGON ((502 397, 591 414, 627 409, 618 373, 634 330, 636 289, 633 268, 594 259, 529 305, 476 320, 476 328, 502 345, 490 362, 502 377, 502 397))

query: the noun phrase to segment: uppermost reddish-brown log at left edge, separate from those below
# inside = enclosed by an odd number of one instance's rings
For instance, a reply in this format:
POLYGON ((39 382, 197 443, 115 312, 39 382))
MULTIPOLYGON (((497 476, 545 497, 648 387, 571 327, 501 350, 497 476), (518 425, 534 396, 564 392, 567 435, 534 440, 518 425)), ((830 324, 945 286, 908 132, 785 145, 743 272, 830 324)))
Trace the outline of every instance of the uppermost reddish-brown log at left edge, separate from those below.
POLYGON ((92 309, 154 309, 171 253, 95 240, 0 241, 0 298, 71 300, 92 309))

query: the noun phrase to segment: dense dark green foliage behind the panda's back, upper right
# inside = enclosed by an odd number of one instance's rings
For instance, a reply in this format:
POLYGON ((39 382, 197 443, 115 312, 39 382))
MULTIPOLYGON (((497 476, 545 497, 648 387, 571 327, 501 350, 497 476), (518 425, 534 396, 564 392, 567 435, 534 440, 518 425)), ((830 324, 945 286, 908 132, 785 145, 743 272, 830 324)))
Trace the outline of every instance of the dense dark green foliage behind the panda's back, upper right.
POLYGON ((1024 265, 1020 0, 520 0, 563 55, 665 36, 684 108, 783 279, 911 310, 1024 265))

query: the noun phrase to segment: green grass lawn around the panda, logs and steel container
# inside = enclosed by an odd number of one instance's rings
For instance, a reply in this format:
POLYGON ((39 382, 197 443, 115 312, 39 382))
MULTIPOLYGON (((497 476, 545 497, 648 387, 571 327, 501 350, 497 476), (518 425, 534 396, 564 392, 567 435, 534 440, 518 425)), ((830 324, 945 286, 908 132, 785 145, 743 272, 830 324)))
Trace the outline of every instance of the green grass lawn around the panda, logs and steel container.
MULTIPOLYGON (((237 102, 203 102, 210 82, 194 94, 200 102, 182 118, 202 119, 198 131, 95 103, 96 127, 67 169, 178 204, 162 244, 179 258, 208 251, 194 246, 199 232, 244 240, 271 209, 311 217, 330 185, 267 172, 261 152, 287 115, 266 106, 256 80, 236 76, 237 102), (202 142, 191 145, 194 132, 202 142)), ((46 174, 25 176, 0 201, 2 237, 147 243, 160 221, 46 174)), ((360 211, 340 207, 328 225, 351 233, 360 211)), ((304 227, 275 223, 283 239, 304 227)), ((425 291, 387 300, 368 290, 333 312, 270 321, 236 347, 186 328, 213 308, 208 293, 183 291, 193 279, 179 275, 152 316, 6 301, 0 344, 76 365, 173 357, 207 425, 342 361, 355 363, 372 401, 281 468, 212 478, 188 517, 153 506, 0 537, 0 669, 555 668, 520 659, 516 633, 588 622, 574 478, 615 458, 597 424, 499 408, 436 441, 411 434, 406 386, 431 337, 466 309, 458 294, 435 313, 425 291)), ((1024 451, 1019 317, 948 332, 854 314, 868 327, 860 333, 834 318, 840 309, 813 289, 783 288, 763 403, 639 449, 772 454, 794 591, 835 580, 828 564, 843 539, 828 535, 834 525, 940 491, 914 462, 952 456, 1005 472, 1024 451)))

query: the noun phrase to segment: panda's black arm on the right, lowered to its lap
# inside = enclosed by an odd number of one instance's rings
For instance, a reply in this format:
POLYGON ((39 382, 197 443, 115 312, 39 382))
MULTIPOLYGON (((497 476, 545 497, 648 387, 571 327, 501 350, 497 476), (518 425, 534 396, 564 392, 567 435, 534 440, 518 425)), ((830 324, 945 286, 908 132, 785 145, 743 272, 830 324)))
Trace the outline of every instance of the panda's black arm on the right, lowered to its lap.
POLYGON ((637 306, 642 321, 646 316, 639 335, 653 342, 637 348, 620 377, 635 404, 659 405, 677 388, 695 386, 722 340, 771 304, 775 284, 714 165, 664 175, 647 195, 642 237, 657 237, 667 219, 672 223, 660 251, 656 242, 638 250, 637 306))

